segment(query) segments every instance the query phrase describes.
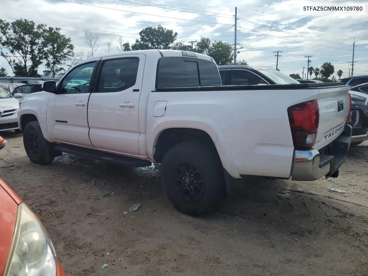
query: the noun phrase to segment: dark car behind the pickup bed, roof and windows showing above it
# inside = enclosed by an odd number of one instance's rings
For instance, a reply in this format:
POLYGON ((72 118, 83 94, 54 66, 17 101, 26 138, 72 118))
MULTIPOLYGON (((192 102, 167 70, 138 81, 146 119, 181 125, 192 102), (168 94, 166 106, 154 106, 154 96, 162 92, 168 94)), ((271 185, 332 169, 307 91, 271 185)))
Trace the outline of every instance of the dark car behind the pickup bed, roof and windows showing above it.
POLYGON ((222 85, 300 84, 280 71, 247 65, 219 66, 222 85))

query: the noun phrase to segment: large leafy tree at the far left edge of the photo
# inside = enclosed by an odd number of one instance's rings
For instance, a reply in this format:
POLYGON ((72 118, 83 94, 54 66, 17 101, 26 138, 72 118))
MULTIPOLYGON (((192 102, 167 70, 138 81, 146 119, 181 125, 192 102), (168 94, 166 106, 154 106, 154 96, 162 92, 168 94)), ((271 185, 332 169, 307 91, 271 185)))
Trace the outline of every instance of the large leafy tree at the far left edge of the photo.
POLYGON ((0 55, 16 77, 39 77, 38 67, 45 59, 45 25, 26 19, 11 23, 0 19, 0 55))

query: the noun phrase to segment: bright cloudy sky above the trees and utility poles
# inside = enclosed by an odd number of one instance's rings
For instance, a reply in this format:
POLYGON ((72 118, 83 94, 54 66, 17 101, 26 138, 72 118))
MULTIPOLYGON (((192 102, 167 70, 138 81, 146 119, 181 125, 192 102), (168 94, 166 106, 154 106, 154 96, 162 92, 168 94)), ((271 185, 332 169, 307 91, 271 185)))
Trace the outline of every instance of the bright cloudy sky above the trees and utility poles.
MULTIPOLYGON (((88 50, 84 30, 100 35, 98 54, 107 53, 104 43, 118 36, 126 42, 139 38, 146 26, 161 24, 178 33, 177 41, 188 44, 202 36, 234 44, 234 17, 237 7, 238 60, 251 66, 276 68, 274 51, 283 51, 279 69, 302 75, 310 55, 311 66, 331 62, 343 77, 348 76, 355 39, 354 75, 368 74, 368 1, 365 13, 303 11, 304 6, 347 1, 272 0, 5 0, 0 18, 19 18, 60 27, 71 37, 76 51, 88 50)), ((114 51, 114 50, 113 50, 114 51)), ((10 68, 0 57, 0 67, 10 68)), ((43 68, 39 68, 42 73, 43 68)), ((304 73, 306 70, 304 70, 304 73)))

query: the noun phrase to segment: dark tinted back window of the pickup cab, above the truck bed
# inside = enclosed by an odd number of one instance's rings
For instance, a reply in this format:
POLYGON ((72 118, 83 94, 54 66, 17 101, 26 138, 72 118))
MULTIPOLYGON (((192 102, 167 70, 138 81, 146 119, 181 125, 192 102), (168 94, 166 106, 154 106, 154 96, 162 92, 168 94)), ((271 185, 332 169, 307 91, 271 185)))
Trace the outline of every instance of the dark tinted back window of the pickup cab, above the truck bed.
POLYGON ((156 88, 220 86, 215 63, 190 57, 161 57, 158 61, 156 88))

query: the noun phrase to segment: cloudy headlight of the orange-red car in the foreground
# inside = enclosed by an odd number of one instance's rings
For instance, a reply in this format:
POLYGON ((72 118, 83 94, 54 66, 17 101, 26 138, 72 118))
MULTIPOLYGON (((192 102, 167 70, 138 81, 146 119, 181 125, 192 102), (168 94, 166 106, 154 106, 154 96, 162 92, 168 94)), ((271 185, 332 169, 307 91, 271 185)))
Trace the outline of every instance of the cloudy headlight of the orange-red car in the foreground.
POLYGON ((56 270, 55 248, 49 235, 38 217, 21 203, 4 276, 55 276, 56 270))

